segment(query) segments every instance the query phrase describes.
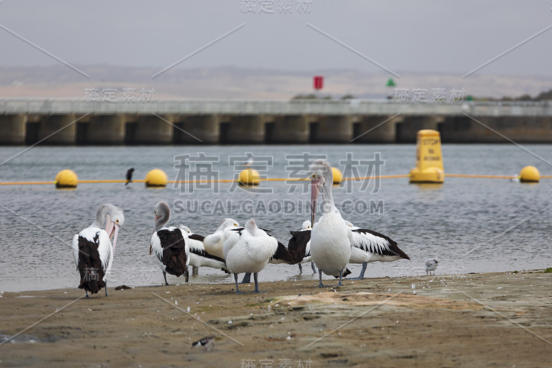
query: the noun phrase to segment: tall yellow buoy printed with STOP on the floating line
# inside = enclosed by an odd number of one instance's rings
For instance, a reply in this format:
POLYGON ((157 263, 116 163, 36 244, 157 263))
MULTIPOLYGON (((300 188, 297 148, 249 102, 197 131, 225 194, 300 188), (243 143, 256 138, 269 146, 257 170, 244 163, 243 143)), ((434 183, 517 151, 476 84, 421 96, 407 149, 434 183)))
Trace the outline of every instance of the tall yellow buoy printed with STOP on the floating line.
POLYGON ((416 167, 410 171, 411 183, 444 182, 441 134, 437 130, 419 130, 416 144, 416 167))

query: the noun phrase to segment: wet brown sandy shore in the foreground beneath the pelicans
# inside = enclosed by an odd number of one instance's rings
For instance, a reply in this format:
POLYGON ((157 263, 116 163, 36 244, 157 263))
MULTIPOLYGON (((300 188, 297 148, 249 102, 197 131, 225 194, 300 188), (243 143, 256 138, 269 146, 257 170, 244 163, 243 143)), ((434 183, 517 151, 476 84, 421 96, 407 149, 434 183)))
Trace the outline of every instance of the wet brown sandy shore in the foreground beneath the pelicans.
POLYGON ((551 367, 552 273, 190 282, 3 293, 0 367, 551 367))

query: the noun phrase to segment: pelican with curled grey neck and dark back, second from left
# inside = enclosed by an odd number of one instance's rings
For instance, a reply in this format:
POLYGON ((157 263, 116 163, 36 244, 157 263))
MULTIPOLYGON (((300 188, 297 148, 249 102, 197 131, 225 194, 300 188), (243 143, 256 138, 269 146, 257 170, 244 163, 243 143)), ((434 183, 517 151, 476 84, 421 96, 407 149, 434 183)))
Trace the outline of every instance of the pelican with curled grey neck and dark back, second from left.
POLYGON ((165 285, 167 272, 177 277, 184 275, 188 282, 188 264, 190 263, 190 246, 186 231, 177 227, 165 227, 170 219, 170 209, 167 202, 159 202, 155 205, 155 225, 151 235, 150 254, 155 252, 155 260, 163 271, 165 285))

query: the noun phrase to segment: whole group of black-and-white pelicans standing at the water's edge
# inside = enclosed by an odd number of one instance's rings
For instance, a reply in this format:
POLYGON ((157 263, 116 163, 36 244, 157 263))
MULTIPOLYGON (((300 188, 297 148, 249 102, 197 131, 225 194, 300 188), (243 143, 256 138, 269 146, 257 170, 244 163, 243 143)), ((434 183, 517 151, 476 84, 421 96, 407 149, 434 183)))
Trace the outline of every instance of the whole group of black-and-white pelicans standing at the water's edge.
MULTIPOLYGON (((259 293, 258 273, 268 262, 299 264, 299 271, 302 271, 302 263, 311 262, 314 272, 315 267, 318 268, 318 287, 324 287, 322 273, 339 278, 335 286, 341 286, 342 278, 350 273, 346 268, 348 263, 362 264, 362 271, 357 277, 362 279, 369 262, 410 259, 391 238, 361 229, 342 218, 333 202, 333 171, 326 160, 313 162, 309 173, 311 221, 305 221, 301 230, 290 232, 293 236, 287 248, 270 235, 270 231, 259 228, 253 218, 247 220, 244 226, 224 218, 216 231, 206 237, 194 234, 184 225, 167 226, 169 206, 166 202, 157 203, 150 254, 155 253, 165 284, 168 285, 166 273, 177 277, 184 275, 188 282, 189 266, 193 267, 194 274, 199 267, 212 267, 233 273, 236 293, 240 293, 238 274, 246 273, 242 282, 249 282, 253 273, 255 292, 259 293), (322 217, 315 222, 319 194, 322 197, 322 217)), ((117 233, 123 224, 123 211, 111 204, 103 204, 97 210, 92 225, 73 238, 75 262, 81 276, 79 288, 85 289, 87 297, 88 291, 97 293, 102 287, 106 288, 108 296, 107 275, 113 261, 117 233), (101 229, 104 221, 105 230, 101 229)), ((433 267, 431 269, 434 271, 433 267)))

